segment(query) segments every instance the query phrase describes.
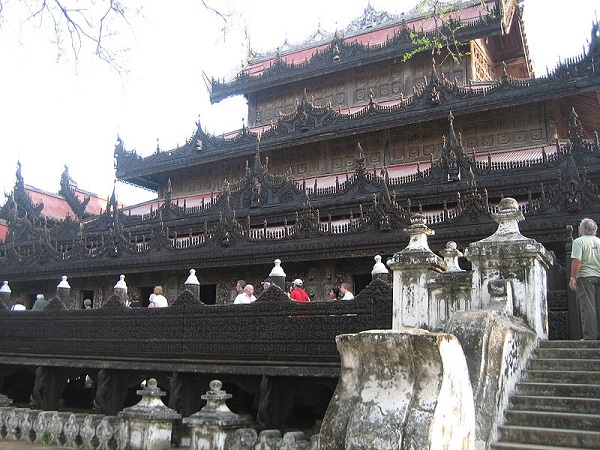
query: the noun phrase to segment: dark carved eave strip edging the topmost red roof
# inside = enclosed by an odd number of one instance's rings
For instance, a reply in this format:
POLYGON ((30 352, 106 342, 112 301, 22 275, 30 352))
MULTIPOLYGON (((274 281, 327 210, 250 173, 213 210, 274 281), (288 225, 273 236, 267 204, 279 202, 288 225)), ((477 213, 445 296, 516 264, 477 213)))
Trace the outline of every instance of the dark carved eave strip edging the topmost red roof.
MULTIPOLYGON (((515 5, 514 0, 502 0, 503 5, 515 5)), ((455 33, 458 42, 469 42, 474 39, 501 35, 507 24, 513 20, 514 7, 499 9, 498 2, 474 2, 468 7, 481 8, 477 19, 461 23, 455 33), (510 17, 504 17, 509 13, 510 17)), ((282 86, 292 82, 302 82, 315 76, 331 75, 343 72, 350 68, 377 63, 396 58, 398 55, 410 53, 420 46, 414 43, 410 33, 419 33, 419 21, 424 18, 405 22, 397 19, 396 22, 386 23, 381 27, 400 26, 393 37, 383 45, 363 46, 354 42, 356 35, 348 38, 333 37, 329 45, 317 51, 308 61, 301 64, 288 64, 281 57, 275 57, 272 65, 265 69, 260 76, 250 76, 243 71, 231 82, 211 81, 210 99, 212 103, 219 102, 232 95, 248 95, 275 86, 282 86)), ((363 30, 364 32, 364 30, 363 30)), ((436 32, 422 33, 422 37, 433 35, 436 32)))

